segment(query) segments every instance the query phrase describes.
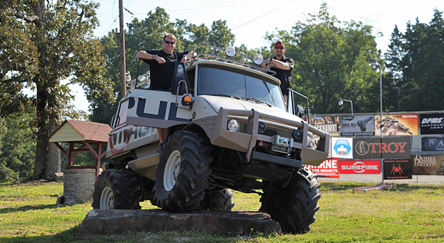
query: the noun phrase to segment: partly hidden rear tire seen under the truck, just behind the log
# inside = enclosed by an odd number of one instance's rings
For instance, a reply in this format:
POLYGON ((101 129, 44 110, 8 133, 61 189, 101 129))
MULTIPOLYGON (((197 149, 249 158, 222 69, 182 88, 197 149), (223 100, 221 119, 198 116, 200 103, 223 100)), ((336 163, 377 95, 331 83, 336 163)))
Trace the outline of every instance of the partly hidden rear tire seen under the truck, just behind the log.
POLYGON ((200 201, 200 210, 230 212, 234 207, 232 198, 234 192, 228 188, 215 192, 205 193, 205 198, 200 201))

